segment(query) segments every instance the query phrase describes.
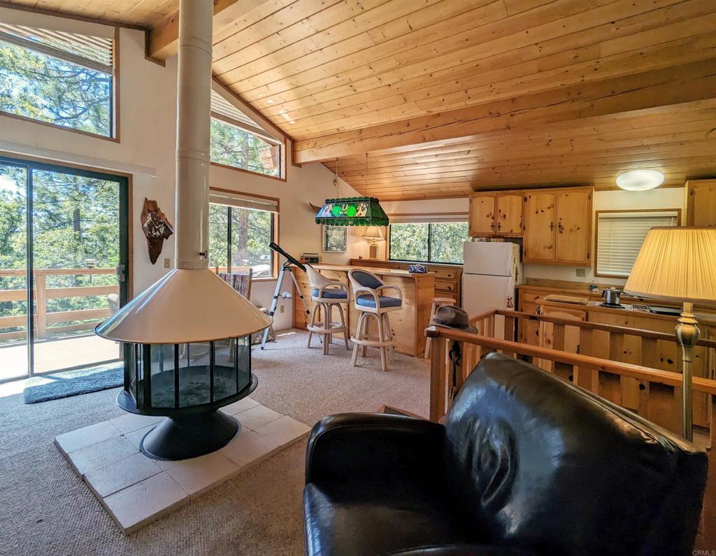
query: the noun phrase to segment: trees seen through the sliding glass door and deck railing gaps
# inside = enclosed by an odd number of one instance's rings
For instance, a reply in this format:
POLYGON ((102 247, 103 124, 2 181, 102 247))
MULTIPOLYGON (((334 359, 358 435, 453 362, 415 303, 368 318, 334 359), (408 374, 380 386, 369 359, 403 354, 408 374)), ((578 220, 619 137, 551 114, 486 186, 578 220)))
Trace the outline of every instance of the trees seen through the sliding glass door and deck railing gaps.
MULTIPOLYGON (((115 269, 120 261, 119 184, 71 174, 32 171, 35 269, 115 269), (89 259, 89 262, 88 262, 89 259), (94 263, 92 263, 94 259, 94 263)), ((0 269, 26 268, 24 168, 0 165, 0 269)), ((117 285, 115 274, 59 274, 47 288, 117 285)), ((0 276, 0 290, 25 289, 26 277, 0 276)), ((47 299, 47 312, 108 307, 107 296, 47 299)), ((26 314, 26 302, 0 302, 0 317, 26 314)), ((69 325, 80 321, 67 321, 69 325)), ((52 328, 53 325, 50 325, 52 328)), ((24 330, 2 327, 0 332, 24 330)))

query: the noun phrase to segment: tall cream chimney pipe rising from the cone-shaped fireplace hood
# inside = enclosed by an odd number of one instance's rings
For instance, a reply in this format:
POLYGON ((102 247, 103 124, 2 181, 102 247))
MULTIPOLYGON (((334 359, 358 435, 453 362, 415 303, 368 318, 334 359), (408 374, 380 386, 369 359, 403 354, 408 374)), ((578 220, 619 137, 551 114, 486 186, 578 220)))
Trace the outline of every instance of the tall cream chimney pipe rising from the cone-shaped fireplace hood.
POLYGON ((211 0, 179 2, 175 265, 208 268, 211 0))

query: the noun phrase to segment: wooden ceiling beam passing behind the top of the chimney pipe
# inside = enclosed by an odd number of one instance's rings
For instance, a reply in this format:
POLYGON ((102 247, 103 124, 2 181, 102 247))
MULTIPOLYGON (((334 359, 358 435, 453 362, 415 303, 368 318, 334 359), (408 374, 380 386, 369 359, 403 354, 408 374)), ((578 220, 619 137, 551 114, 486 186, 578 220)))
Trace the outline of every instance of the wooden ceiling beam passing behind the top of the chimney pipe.
MULTIPOLYGON (((213 35, 233 24, 246 12, 266 4, 268 0, 214 0, 213 35)), ((157 25, 149 34, 147 57, 164 62, 177 53, 179 39, 179 11, 171 14, 163 23, 157 25)))

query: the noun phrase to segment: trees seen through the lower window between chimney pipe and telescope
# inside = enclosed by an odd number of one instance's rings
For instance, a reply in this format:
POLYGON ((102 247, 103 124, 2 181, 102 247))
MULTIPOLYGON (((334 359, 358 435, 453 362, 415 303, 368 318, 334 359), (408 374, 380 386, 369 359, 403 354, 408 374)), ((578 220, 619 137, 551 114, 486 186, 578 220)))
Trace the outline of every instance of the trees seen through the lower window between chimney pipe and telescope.
POLYGON ((271 276, 273 214, 211 203, 209 205, 209 266, 252 267, 253 276, 271 276), (231 241, 228 222, 231 219, 231 241))

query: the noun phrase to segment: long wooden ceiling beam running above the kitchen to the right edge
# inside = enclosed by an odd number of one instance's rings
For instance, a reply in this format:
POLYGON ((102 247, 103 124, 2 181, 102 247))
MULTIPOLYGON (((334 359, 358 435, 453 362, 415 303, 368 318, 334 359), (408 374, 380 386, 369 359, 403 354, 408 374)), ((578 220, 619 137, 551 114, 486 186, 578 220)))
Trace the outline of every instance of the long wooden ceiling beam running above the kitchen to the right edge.
MULTIPOLYGON (((577 123, 639 110, 710 100, 716 97, 716 59, 584 83, 448 112, 375 125, 294 143, 296 163, 331 160, 361 153, 407 150, 435 141, 465 141, 528 125, 577 123)), ((582 122, 584 123, 584 122, 582 122)))

